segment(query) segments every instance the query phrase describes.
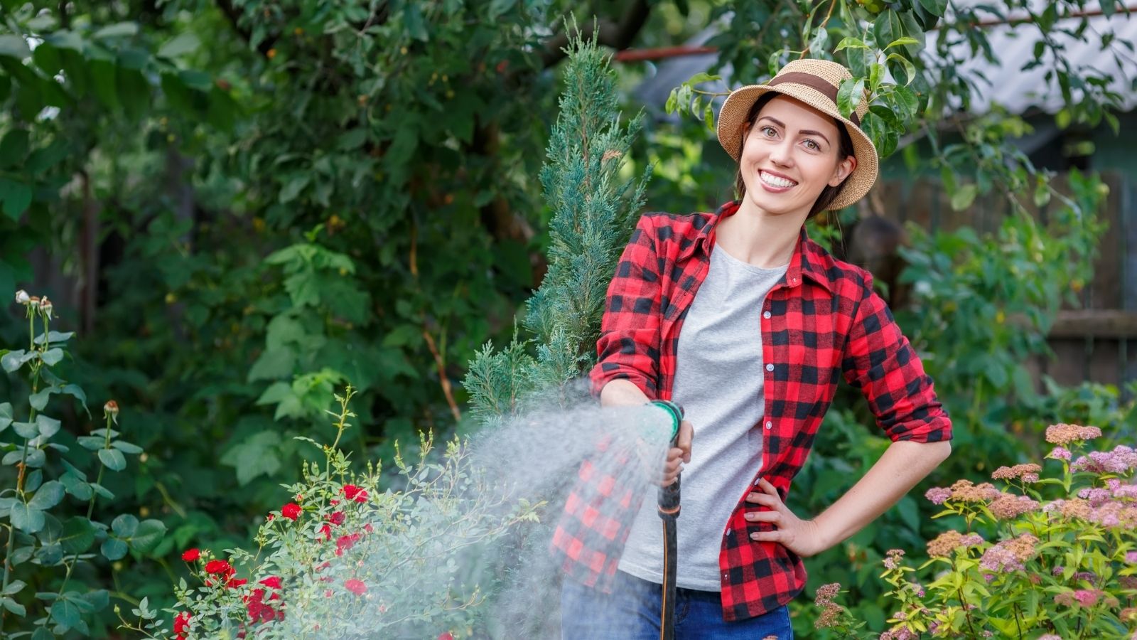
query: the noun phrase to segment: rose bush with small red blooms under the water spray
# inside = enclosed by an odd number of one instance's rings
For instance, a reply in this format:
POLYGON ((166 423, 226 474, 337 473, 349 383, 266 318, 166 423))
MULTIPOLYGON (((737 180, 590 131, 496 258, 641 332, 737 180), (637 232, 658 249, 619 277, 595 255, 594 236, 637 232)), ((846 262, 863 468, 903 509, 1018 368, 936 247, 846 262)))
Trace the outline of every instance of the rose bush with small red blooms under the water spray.
POLYGON ((450 630, 468 627, 485 589, 463 575, 471 564, 463 560, 513 525, 534 522, 541 503, 509 500, 473 468, 457 440, 438 459, 429 436, 416 463, 396 453, 402 489, 381 491, 376 465, 355 473, 338 449, 355 416, 352 394, 348 387, 335 395, 335 442, 321 446, 324 461, 306 463, 302 481, 288 487, 292 500, 268 514, 257 553, 185 550, 182 560, 199 585, 177 585, 177 607, 167 609, 172 630, 146 600, 132 609, 133 621, 119 612, 124 629, 186 640, 454 638, 450 630))

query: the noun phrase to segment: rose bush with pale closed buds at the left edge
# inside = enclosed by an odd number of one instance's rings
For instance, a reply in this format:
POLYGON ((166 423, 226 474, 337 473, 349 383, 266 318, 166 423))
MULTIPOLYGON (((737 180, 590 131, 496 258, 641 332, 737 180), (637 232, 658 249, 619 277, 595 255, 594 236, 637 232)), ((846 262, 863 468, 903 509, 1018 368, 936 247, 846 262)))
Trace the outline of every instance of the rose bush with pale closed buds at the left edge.
POLYGON ((92 519, 100 498, 115 498, 102 485, 103 474, 122 471, 126 456, 142 453, 142 449, 118 437, 114 427, 119 408, 114 400, 102 408, 106 426, 78 436, 78 449, 70 451, 57 442, 57 435, 64 435, 63 422, 44 412, 52 395, 74 397, 90 417, 83 389, 52 372, 66 358, 64 345, 74 334, 50 329, 55 309, 47 296, 19 290, 16 303, 25 310, 28 345, 0 350, 0 368, 7 374, 26 371, 31 393, 24 420, 16 416, 24 408, 0 402, 0 434, 16 440, 0 442, 0 520, 7 520, 2 524, 7 541, 0 606, 6 610, 0 635, 19 635, 7 626, 9 617, 15 618, 16 630, 34 640, 76 632, 86 635, 92 632, 90 621, 107 608, 110 598, 107 590, 89 589, 74 579, 75 569, 100 556, 121 560, 131 549, 149 552, 161 541, 166 526, 160 520, 139 522, 128 514, 109 524, 92 519), (64 453, 69 454, 64 458, 64 453), (94 482, 88 479, 89 473, 94 474, 94 482), (96 544, 98 553, 91 552, 96 544))

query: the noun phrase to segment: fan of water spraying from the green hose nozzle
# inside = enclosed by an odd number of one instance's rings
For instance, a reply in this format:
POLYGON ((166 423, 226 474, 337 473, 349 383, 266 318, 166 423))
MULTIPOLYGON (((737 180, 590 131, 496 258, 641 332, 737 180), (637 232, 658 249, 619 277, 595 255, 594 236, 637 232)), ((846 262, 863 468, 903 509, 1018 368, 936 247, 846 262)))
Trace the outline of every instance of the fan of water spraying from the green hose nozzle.
MULTIPOLYGON (((566 498, 600 509, 623 500, 632 514, 654 502, 671 435, 658 408, 600 408, 583 385, 421 463, 400 461, 368 522, 337 532, 368 533, 337 539, 342 555, 284 581, 284 616, 258 634, 558 638, 564 558, 550 543, 566 498)), ((617 557, 622 539, 597 551, 617 557)))

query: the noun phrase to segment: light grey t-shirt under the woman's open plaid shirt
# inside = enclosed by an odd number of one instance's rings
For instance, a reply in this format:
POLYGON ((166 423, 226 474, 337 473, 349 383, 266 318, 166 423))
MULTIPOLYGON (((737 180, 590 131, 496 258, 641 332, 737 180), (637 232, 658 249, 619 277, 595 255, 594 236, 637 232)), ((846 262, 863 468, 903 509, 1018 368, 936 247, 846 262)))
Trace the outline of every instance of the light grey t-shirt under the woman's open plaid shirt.
MULTIPOLYGON (((721 591, 719 551, 730 514, 762 466, 762 304, 789 265, 760 269, 711 252, 711 268, 679 334, 672 400, 695 428, 677 520, 684 589, 721 591)), ((620 569, 663 582, 663 528, 655 493, 636 516, 620 569)))

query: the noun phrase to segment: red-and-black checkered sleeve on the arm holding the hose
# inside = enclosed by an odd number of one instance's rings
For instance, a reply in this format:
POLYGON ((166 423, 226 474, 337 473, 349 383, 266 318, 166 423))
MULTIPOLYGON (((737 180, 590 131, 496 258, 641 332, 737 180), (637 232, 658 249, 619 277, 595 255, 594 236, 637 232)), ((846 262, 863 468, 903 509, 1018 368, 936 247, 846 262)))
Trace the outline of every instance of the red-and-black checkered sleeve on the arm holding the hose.
POLYGON ((641 216, 624 247, 608 285, 596 343, 597 362, 589 374, 591 391, 600 395, 612 380, 631 380, 648 399, 659 393, 659 261, 656 232, 641 216))

